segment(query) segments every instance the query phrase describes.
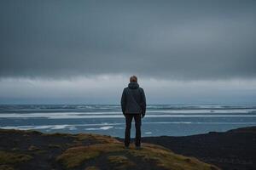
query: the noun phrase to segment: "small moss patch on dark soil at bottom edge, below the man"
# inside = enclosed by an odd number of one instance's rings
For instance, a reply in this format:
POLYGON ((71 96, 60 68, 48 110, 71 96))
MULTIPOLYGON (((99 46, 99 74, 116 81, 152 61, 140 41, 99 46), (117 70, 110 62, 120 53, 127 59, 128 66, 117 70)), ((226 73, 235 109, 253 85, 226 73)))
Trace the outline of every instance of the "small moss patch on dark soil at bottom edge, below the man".
POLYGON ((136 164, 126 156, 108 156, 108 161, 113 164, 114 169, 130 169, 136 164))

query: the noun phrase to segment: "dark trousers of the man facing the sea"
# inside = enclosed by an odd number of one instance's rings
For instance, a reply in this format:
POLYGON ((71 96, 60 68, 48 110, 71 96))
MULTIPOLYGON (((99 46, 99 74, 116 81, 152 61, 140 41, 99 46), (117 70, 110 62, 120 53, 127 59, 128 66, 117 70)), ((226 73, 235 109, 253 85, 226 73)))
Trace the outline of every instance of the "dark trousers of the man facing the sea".
POLYGON ((135 145, 141 145, 141 125, 142 118, 141 114, 125 114, 125 146, 129 146, 131 141, 131 122, 134 117, 135 128, 136 128, 136 136, 135 136, 135 145))

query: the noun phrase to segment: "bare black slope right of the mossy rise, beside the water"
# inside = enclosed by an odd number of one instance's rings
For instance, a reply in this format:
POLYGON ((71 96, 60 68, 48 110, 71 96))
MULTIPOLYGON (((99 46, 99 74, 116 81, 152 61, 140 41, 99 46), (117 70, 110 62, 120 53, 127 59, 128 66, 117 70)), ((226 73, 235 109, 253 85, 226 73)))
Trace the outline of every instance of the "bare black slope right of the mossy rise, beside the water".
POLYGON ((147 137, 143 142, 160 144, 177 154, 194 156, 224 170, 256 169, 256 127, 184 137, 147 137))

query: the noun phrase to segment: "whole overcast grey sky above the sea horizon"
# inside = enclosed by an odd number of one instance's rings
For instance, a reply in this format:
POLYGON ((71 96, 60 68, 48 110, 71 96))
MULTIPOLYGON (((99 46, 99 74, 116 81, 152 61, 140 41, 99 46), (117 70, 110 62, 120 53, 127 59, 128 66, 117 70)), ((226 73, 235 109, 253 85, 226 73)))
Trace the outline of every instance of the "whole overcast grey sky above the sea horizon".
POLYGON ((0 1, 0 103, 255 104, 256 1, 0 1))

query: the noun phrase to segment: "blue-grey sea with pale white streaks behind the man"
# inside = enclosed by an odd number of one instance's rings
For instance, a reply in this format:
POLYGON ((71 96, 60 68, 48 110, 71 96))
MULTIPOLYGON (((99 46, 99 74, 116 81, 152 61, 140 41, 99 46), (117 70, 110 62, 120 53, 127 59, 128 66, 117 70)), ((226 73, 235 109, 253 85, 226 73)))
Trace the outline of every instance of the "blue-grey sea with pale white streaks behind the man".
MULTIPOLYGON (((148 105, 142 123, 142 136, 224 132, 256 126, 256 105, 148 105)), ((124 138, 125 117, 120 105, 0 105, 0 128, 124 138)))

